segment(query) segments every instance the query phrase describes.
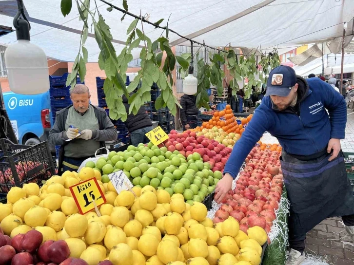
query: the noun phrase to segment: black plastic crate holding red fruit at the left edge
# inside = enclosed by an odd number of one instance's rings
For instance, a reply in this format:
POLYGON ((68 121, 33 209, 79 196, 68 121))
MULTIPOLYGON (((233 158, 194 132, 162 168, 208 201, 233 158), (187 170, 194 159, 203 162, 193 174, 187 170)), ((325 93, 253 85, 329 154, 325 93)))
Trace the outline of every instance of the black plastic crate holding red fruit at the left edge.
POLYGON ((55 172, 48 141, 38 145, 16 145, 0 139, 0 198, 12 187, 49 179, 55 172))

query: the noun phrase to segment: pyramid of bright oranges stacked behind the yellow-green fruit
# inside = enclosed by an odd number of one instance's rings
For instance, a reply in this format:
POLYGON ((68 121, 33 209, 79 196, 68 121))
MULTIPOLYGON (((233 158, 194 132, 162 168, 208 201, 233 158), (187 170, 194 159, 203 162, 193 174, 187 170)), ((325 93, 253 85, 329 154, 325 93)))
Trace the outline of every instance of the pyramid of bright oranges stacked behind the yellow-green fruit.
POLYGON ((212 129, 216 127, 217 129, 222 129, 224 132, 230 133, 240 133, 245 131, 243 125, 248 123, 252 119, 252 114, 250 114, 247 118, 243 118, 241 120, 241 124, 237 124, 236 117, 234 116, 233 111, 231 110, 230 105, 226 105, 226 108, 220 112, 215 112, 212 119, 209 121, 203 122, 201 127, 197 127, 200 131, 204 128, 212 129))

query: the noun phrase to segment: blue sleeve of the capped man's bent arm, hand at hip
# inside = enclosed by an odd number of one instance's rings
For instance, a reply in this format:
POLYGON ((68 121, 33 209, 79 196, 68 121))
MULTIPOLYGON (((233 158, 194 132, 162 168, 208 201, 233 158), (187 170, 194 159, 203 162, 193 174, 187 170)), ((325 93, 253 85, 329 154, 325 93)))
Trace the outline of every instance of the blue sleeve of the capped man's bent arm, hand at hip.
POLYGON ((344 139, 347 123, 347 104, 343 95, 336 92, 330 85, 320 82, 323 91, 324 106, 330 114, 331 138, 344 139))

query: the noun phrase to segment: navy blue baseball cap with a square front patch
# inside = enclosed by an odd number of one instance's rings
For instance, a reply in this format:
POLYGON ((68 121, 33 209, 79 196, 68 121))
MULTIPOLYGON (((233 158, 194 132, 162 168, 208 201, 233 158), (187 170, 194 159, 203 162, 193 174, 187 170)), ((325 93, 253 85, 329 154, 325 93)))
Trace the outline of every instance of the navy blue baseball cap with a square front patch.
POLYGON ((291 88, 296 84, 296 73, 293 68, 286 65, 275 67, 267 81, 267 95, 288 96, 291 88))

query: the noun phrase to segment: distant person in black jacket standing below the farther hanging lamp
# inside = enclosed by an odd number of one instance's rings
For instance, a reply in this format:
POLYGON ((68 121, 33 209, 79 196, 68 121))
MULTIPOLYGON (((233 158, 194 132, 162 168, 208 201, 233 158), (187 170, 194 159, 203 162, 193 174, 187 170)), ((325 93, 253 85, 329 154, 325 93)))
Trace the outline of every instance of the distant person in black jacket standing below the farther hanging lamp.
POLYGON ((181 97, 179 116, 182 121, 183 131, 197 127, 198 109, 196 106, 197 97, 195 95, 184 94, 181 97))

